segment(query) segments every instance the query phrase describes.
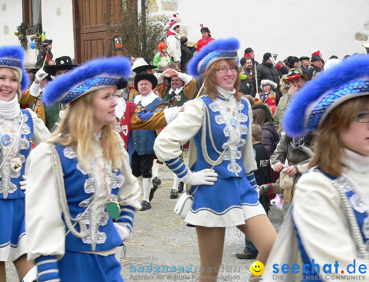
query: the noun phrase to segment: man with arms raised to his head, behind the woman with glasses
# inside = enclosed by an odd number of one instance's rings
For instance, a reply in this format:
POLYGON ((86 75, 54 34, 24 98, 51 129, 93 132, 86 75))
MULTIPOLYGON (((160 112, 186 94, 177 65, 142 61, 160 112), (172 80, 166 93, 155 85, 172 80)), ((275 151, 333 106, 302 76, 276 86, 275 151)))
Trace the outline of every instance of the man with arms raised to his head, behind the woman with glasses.
MULTIPOLYGON (((159 96, 163 98, 167 108, 182 106, 195 95, 196 80, 186 73, 179 70, 175 71, 175 75, 171 78, 171 87, 162 82, 157 86, 159 96)), ((178 192, 183 191, 183 183, 179 182, 179 178, 174 174, 174 182, 170 197, 178 198, 178 192)))

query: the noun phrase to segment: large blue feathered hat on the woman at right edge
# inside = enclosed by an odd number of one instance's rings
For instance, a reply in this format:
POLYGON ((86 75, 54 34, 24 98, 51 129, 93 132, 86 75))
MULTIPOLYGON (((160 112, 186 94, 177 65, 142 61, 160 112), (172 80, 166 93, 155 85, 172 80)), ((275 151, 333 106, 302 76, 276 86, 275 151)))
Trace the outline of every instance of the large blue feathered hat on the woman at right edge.
POLYGON ((306 83, 291 99, 283 128, 289 136, 304 136, 345 100, 363 95, 369 95, 369 55, 343 61, 306 83))

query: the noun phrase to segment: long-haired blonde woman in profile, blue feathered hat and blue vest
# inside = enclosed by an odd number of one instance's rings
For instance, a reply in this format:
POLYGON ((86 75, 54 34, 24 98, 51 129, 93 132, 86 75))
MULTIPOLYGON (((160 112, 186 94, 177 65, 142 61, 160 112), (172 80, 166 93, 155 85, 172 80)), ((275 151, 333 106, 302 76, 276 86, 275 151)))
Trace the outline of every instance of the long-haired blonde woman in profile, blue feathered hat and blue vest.
POLYGON ((116 85, 130 72, 126 58, 96 59, 44 92, 46 105, 69 106, 27 162, 28 259, 39 281, 123 281, 115 248, 130 237, 141 208, 129 155, 115 132, 116 85), (63 183, 65 196, 58 192, 63 183))

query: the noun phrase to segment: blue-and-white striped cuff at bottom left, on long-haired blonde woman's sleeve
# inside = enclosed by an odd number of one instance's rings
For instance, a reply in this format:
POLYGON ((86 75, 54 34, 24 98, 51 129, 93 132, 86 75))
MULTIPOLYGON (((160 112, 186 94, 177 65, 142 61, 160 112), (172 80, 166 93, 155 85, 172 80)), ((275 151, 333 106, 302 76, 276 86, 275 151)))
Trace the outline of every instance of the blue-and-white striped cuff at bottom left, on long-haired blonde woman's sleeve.
POLYGON ((39 256, 35 259, 38 273, 38 281, 60 281, 59 266, 56 256, 39 256))

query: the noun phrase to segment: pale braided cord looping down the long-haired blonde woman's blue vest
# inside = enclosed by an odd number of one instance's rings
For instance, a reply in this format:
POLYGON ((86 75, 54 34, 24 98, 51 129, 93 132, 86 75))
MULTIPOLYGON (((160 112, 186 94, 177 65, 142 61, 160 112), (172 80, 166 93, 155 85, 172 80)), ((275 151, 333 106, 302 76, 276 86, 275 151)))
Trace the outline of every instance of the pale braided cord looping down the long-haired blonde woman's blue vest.
MULTIPOLYGON (((56 186, 58 189, 58 195, 59 195, 59 202, 61 206, 61 211, 64 214, 65 223, 68 228, 68 232, 71 232, 74 236, 78 238, 84 238, 87 235, 87 226, 82 222, 82 220, 72 218, 69 212, 68 202, 67 202, 67 195, 64 187, 64 180, 63 180, 63 169, 61 168, 60 158, 56 151, 55 145, 50 144, 51 152, 52 152, 52 159, 53 159, 53 169, 55 171, 55 178, 56 178, 56 186), (76 221, 74 225, 72 225, 72 220, 76 221), (79 230, 78 232, 74 226, 78 223, 79 230)), ((93 202, 91 202, 92 204, 93 202)), ((87 207, 87 209, 84 211, 84 213, 87 212, 87 210, 91 207, 87 207)), ((67 235, 66 234, 66 235, 67 235)))

